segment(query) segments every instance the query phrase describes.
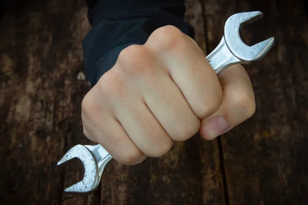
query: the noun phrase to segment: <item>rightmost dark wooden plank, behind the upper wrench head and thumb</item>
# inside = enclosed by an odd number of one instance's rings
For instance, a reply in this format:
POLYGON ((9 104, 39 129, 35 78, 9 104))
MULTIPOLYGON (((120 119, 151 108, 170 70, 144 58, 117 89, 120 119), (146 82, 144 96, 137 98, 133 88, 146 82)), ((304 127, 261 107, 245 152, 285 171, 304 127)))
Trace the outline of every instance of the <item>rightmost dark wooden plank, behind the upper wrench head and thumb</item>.
MULTIPOLYGON (((229 14, 261 10, 264 19, 244 29, 242 37, 248 45, 271 36, 277 42, 265 58, 245 66, 255 90, 255 115, 221 138, 229 204, 308 202, 308 27, 303 8, 302 1, 205 1, 206 17, 214 11, 222 22, 229 14)), ((208 44, 216 44, 219 39, 210 38, 216 30, 208 33, 208 44)))

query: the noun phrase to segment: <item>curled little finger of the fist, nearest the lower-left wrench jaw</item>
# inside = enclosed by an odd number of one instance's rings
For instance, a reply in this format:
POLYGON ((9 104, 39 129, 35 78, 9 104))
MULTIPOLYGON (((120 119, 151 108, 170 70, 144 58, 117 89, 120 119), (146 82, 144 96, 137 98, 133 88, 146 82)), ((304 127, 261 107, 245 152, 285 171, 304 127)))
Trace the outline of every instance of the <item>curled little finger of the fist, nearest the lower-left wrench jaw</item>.
POLYGON ((83 130, 86 137, 98 142, 105 150, 122 165, 136 165, 145 160, 146 156, 133 143, 122 125, 117 121, 106 106, 103 99, 95 100, 93 87, 82 102, 83 130))

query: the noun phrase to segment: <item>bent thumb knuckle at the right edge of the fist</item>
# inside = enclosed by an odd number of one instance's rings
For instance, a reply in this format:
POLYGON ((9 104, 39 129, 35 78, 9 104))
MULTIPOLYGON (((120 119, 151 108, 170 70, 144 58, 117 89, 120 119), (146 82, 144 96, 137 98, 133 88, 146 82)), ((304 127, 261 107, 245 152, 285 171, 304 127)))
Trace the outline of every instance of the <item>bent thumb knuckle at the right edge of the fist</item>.
POLYGON ((245 119, 253 116, 256 111, 256 101, 254 95, 248 92, 237 92, 234 95, 234 100, 237 104, 238 112, 245 119))

